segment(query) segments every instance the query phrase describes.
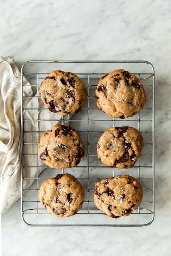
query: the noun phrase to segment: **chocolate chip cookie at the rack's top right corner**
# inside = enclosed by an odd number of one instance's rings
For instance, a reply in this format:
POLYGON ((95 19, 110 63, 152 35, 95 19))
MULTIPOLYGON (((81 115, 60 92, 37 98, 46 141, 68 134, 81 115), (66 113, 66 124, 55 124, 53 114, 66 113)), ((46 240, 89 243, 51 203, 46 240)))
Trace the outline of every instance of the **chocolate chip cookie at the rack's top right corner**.
POLYGON ((108 116, 121 119, 138 113, 146 100, 140 80, 123 69, 114 70, 101 77, 95 94, 100 110, 108 116))

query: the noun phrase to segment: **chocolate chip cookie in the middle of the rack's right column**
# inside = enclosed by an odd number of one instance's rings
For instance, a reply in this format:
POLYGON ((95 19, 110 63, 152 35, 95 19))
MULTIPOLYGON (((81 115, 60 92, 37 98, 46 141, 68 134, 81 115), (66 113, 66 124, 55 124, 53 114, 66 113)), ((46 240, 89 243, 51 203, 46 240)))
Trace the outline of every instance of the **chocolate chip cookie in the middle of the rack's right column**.
POLYGON ((131 168, 141 154, 144 141, 137 129, 128 126, 104 131, 97 144, 99 160, 107 166, 131 168))

